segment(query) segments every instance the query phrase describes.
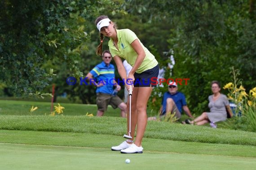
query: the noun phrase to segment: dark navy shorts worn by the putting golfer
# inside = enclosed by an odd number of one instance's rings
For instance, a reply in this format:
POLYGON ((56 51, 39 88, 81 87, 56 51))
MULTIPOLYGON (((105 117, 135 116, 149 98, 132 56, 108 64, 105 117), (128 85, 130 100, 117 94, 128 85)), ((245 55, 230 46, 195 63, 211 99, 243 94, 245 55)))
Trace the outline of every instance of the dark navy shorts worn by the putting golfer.
POLYGON ((157 77, 159 74, 159 65, 150 68, 141 73, 134 73, 134 87, 155 87, 157 85, 157 77))

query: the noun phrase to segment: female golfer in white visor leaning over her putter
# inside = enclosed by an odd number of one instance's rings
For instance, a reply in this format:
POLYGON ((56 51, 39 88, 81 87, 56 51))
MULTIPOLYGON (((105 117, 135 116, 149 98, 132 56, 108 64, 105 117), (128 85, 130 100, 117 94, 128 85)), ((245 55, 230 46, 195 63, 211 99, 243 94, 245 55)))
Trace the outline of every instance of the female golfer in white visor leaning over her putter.
POLYGON ((132 84, 132 102, 131 113, 129 112, 130 102, 127 102, 127 136, 131 139, 124 141, 118 146, 113 146, 111 149, 120 151, 121 153, 142 153, 141 147, 142 138, 147 125, 147 102, 159 73, 158 62, 154 55, 143 46, 141 41, 129 29, 117 30, 116 24, 107 16, 100 16, 96 19, 95 25, 100 31, 101 43, 97 47, 96 54, 102 55, 102 43, 104 36, 109 37, 109 50, 117 65, 118 73, 123 80, 128 90, 132 84), (127 60, 132 66, 132 70, 128 76, 124 68, 122 59, 127 60), (131 133, 129 133, 129 117, 131 114, 131 133), (134 140, 135 128, 137 126, 136 140, 134 140), (134 140, 134 142, 133 142, 134 140))

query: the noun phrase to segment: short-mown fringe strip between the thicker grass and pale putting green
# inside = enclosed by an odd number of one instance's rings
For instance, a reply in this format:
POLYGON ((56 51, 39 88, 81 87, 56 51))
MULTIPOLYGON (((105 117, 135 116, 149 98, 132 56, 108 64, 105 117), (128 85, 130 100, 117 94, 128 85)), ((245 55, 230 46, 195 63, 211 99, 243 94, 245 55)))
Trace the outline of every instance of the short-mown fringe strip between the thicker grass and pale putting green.
MULTIPOLYGON (((75 132, 37 132, 0 130, 0 142, 17 144, 38 144, 56 146, 75 146, 109 149, 118 145, 122 136, 75 133, 75 132)), ((145 152, 190 153, 238 157, 256 157, 256 146, 234 144, 207 144, 144 138, 145 152)), ((144 152, 144 153, 145 153, 144 152)))

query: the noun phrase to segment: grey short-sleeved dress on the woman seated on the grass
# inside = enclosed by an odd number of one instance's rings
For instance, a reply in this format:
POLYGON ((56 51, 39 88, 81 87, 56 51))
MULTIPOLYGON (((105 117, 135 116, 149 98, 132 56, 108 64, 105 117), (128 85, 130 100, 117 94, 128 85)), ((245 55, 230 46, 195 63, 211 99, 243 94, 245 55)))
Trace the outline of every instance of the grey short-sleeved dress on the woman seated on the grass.
POLYGON ((211 122, 220 122, 227 119, 227 111, 225 106, 229 106, 229 101, 226 95, 221 94, 220 97, 213 101, 213 95, 208 97, 210 112, 206 112, 208 119, 211 122))

